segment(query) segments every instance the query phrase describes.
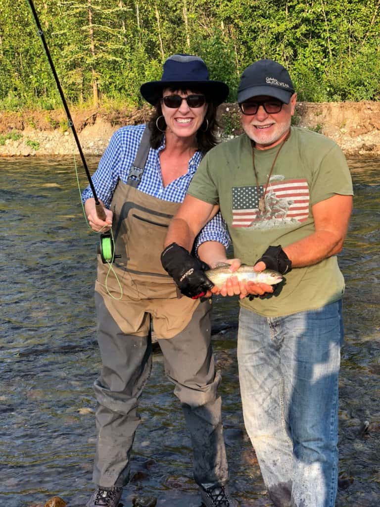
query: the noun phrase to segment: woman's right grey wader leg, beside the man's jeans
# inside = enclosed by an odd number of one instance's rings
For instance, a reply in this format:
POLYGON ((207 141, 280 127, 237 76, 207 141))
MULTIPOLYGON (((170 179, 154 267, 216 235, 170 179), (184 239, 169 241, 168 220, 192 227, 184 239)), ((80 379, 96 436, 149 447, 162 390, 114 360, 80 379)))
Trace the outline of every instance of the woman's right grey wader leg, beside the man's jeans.
POLYGON ((204 488, 224 485, 228 480, 210 311, 208 301, 201 303, 182 332, 169 340, 159 340, 166 374, 175 385, 174 393, 191 434, 194 479, 204 488))

